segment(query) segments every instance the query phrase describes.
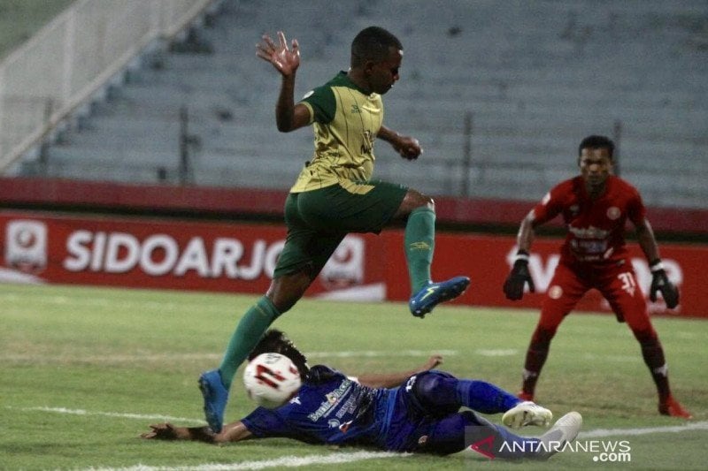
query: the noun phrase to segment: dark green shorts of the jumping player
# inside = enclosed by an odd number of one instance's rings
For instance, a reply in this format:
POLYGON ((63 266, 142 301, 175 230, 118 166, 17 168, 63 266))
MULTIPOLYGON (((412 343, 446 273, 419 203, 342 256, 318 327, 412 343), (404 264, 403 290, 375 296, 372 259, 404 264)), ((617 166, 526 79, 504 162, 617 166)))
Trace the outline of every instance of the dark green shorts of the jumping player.
POLYGON ((406 186, 387 182, 341 182, 289 194, 285 201, 288 237, 273 277, 301 270, 316 277, 349 232, 381 232, 407 191, 406 186))

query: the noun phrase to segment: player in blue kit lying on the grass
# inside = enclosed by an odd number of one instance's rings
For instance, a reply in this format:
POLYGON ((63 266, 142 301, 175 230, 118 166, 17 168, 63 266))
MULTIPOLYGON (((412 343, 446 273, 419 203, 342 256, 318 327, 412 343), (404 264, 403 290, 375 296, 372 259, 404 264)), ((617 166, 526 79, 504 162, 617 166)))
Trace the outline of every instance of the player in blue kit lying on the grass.
POLYGON ((547 459, 577 436, 582 423, 581 415, 571 412, 541 437, 520 437, 476 412, 504 413, 504 425, 519 428, 548 425, 550 411, 494 384, 429 369, 440 363, 440 357, 431 357, 413 374, 351 378, 324 365, 310 368, 303 353, 277 330, 269 330, 250 358, 269 351, 288 357, 303 378, 281 406, 258 407, 219 433, 208 426, 162 423, 150 425, 150 432, 141 437, 212 444, 289 437, 311 444, 356 444, 439 455, 483 444, 486 456, 519 460, 547 459), (472 410, 460 412, 463 406, 472 410))

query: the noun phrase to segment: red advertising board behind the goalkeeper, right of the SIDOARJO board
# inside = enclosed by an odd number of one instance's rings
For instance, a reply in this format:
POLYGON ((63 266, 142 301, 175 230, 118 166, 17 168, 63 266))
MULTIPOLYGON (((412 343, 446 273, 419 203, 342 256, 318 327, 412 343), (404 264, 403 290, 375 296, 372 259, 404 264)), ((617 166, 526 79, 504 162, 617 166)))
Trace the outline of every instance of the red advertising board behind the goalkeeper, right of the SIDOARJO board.
MULTIPOLYGON (((386 243, 389 249, 387 263, 392 273, 388 280, 407 280, 403 254, 403 233, 387 235, 386 243)), ((445 279, 457 275, 472 278, 470 288, 453 302, 477 306, 497 306, 508 308, 540 308, 543 295, 549 288, 550 279, 558 265, 559 248, 562 239, 535 239, 533 252, 528 268, 534 278, 535 292, 527 292, 523 300, 511 301, 504 297, 502 285, 511 270, 516 254, 516 240, 509 236, 486 236, 479 234, 441 234, 435 236, 435 259, 433 261, 433 278, 445 279)), ((659 244, 666 274, 681 290, 681 304, 673 309, 666 309, 666 304, 659 299, 649 301, 652 314, 687 315, 693 317, 708 317, 708 299, 704 296, 702 277, 696 276, 702 272, 702 267, 708 266, 708 247, 684 244, 659 244)), ((640 247, 629 244, 632 265, 635 268, 637 283, 645 296, 648 295, 651 284, 649 264, 644 258, 640 247)), ((407 283, 387 283, 389 300, 407 300, 410 289, 407 283)), ((577 307, 582 311, 612 312, 609 304, 599 292, 588 292, 577 307)))

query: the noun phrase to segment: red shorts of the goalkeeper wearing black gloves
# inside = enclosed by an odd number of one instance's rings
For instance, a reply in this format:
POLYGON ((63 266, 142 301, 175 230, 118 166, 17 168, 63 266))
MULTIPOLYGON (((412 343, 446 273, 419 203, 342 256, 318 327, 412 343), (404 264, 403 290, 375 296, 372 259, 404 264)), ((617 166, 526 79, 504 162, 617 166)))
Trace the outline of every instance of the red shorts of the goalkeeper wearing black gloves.
POLYGON ((618 319, 626 321, 630 329, 653 330, 647 302, 628 260, 599 266, 558 263, 543 300, 539 327, 555 332, 563 318, 593 288, 602 293, 618 319))

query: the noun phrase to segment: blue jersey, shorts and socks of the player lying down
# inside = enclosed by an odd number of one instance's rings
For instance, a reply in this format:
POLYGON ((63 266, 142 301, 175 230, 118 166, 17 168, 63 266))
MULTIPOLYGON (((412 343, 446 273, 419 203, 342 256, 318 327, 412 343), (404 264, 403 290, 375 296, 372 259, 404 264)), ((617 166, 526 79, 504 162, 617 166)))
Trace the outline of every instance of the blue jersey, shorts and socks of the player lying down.
POLYGON ((459 412, 460 406, 476 406, 494 414, 510 408, 504 400, 519 402, 491 384, 429 370, 410 376, 395 389, 372 389, 321 365, 312 367, 313 372, 317 379, 304 381, 288 404, 273 410, 258 407, 242 419, 250 433, 439 455, 460 452, 490 436, 502 441, 536 440, 515 436, 473 411, 459 412), (460 391, 466 392, 461 396, 460 391))

